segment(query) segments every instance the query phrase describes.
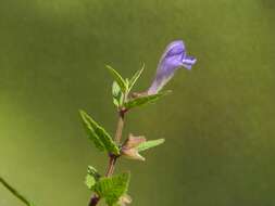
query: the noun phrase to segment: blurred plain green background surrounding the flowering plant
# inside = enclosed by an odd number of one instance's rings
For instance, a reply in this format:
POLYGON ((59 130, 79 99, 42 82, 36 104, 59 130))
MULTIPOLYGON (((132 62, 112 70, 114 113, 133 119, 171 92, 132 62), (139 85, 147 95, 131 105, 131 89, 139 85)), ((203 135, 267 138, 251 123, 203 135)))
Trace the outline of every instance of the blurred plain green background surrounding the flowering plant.
POLYGON ((166 139, 146 163, 120 163, 133 206, 274 206, 274 22, 273 0, 1 0, 0 176, 37 206, 87 205, 87 165, 104 171, 107 157, 78 108, 114 132, 104 64, 130 76, 146 63, 141 91, 184 39, 193 69, 126 119, 125 136, 166 139))

